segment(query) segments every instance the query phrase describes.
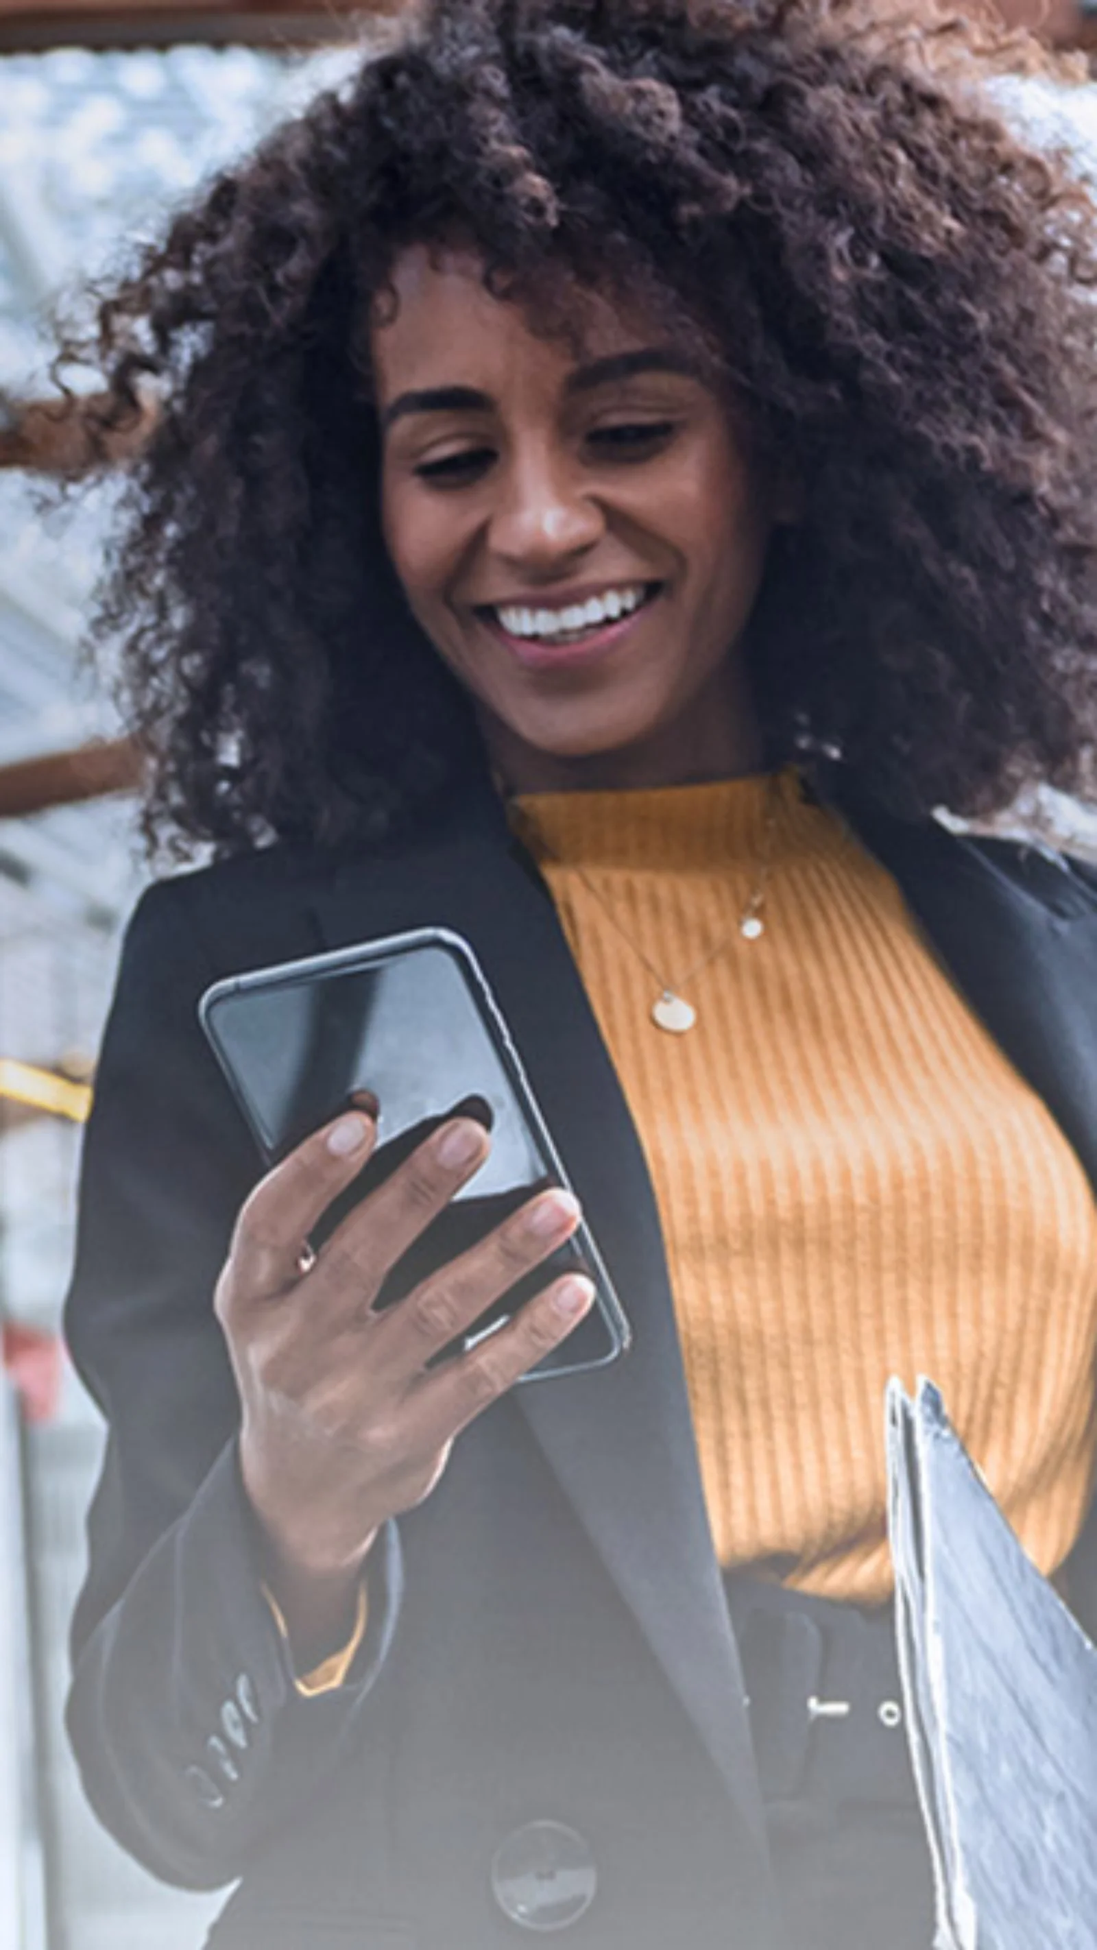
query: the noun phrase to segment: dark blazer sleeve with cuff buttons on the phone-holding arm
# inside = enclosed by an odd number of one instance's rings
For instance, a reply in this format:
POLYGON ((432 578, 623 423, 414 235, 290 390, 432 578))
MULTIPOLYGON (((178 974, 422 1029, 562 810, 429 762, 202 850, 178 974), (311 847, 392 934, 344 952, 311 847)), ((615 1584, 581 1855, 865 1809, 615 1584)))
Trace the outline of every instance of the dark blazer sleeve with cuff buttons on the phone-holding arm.
POLYGON ((74 1363, 107 1420, 68 1730, 99 1819, 185 1888, 236 1880, 359 1734, 399 1597, 390 1525, 347 1683, 302 1696, 263 1597, 212 1293, 259 1162, 197 1020, 187 879, 131 922, 88 1123, 74 1363))

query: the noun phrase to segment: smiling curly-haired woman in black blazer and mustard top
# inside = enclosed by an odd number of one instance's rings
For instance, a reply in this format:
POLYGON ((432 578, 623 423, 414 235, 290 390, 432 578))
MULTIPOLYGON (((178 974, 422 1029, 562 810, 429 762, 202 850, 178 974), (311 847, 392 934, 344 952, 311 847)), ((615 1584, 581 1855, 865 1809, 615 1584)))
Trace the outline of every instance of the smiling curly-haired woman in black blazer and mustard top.
POLYGON ((101 626, 220 858, 88 1127, 70 1728, 218 1950, 926 1950, 890 1375, 1097 1620, 1097 881, 927 817, 1097 735, 1093 213, 976 41, 431 0, 101 300, 101 626), (473 1117, 347 1207, 380 1080, 261 1176, 197 1022, 436 926, 581 1199, 454 1258, 473 1117), (514 1388, 581 1211, 631 1351, 514 1388))

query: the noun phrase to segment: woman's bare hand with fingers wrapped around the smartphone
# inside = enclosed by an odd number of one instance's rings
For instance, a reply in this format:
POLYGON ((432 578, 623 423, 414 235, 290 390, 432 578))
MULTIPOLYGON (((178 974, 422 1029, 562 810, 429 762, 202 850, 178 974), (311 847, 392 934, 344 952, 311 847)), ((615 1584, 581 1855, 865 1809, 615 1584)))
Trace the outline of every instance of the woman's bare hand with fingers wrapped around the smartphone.
POLYGON ((555 1279, 507 1326, 429 1369, 522 1273, 579 1225, 551 1190, 384 1310, 390 1268, 483 1164, 487 1131, 435 1131, 351 1211, 302 1273, 302 1250, 366 1164, 372 1117, 314 1133, 255 1188, 216 1289, 242 1400, 240 1462, 267 1544, 267 1578, 298 1658, 339 1644, 380 1525, 423 1502, 454 1437, 561 1342, 594 1297, 555 1279))

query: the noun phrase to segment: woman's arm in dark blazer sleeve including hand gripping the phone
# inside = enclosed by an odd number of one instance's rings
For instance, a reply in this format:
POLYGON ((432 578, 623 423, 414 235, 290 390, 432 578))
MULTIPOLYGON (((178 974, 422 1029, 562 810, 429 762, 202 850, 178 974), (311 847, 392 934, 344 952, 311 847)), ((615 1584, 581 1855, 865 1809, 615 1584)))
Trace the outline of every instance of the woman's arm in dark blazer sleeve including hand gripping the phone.
POLYGON ((259 1184, 205 1047, 185 895, 131 928, 88 1133, 78 1365, 109 1420, 92 1570, 74 1630, 70 1730, 103 1821, 168 1880, 238 1876, 316 1806, 392 1640, 392 1517, 431 1494, 456 1435, 555 1347, 592 1283, 549 1281, 440 1365, 579 1223, 536 1193, 483 1240, 374 1310, 386 1275, 489 1149, 442 1123, 360 1199, 308 1273, 302 1242, 376 1139, 359 1112, 259 1184), (368 1550, 368 1620, 347 1683, 304 1698, 304 1663, 345 1636, 368 1550))

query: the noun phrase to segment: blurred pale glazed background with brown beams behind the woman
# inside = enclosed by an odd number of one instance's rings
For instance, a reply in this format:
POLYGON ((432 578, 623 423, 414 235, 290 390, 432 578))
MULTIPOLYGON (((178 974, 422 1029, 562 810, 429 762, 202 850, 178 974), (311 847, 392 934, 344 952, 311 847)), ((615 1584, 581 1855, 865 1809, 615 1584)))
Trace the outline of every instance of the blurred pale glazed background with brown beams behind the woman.
MULTIPOLYGON (((386 10, 0 0, 0 394, 19 402, 0 417, 0 1950, 189 1950, 222 1901, 164 1890, 113 1847, 82 1806, 60 1726, 99 1427, 58 1312, 119 930, 148 870, 132 757, 80 653, 113 489, 43 511, 70 458, 41 410, 47 320, 339 80, 386 10)), ((1097 49, 1097 12, 1076 0, 1003 12, 1097 49)), ((1097 179, 1097 88, 1009 80, 1003 98, 1097 179)), ((1097 858, 1085 807, 1035 796, 1015 823, 1097 858)))

